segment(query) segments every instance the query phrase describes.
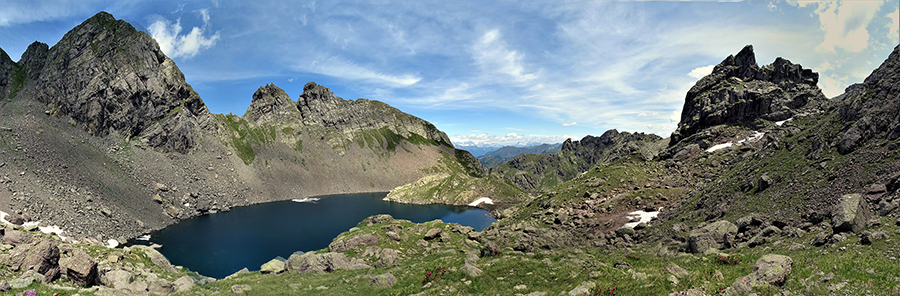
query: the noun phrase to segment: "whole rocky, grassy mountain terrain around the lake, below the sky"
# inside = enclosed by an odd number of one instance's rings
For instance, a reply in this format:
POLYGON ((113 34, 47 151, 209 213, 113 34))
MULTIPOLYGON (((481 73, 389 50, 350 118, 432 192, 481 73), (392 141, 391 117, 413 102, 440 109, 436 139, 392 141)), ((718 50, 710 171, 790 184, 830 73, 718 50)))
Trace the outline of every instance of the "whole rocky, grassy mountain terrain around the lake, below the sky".
POLYGON ((427 121, 314 82, 210 114, 151 38, 100 13, 0 55, 0 292, 896 295, 898 64, 900 46, 827 99, 816 73, 759 67, 748 45, 686 94, 667 139, 609 130, 485 170, 427 121), (392 189, 493 201, 479 206, 498 221, 376 215, 223 279, 109 247, 236 206, 392 189))

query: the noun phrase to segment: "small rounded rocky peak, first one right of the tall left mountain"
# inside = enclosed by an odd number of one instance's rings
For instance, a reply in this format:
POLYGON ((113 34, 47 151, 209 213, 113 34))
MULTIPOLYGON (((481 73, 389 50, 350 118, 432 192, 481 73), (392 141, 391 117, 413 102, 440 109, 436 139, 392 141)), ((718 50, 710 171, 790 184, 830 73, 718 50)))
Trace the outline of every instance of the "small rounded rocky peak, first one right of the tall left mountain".
POLYGON ((297 120, 300 118, 300 110, 283 89, 267 84, 253 93, 253 101, 244 113, 244 118, 256 123, 297 120))

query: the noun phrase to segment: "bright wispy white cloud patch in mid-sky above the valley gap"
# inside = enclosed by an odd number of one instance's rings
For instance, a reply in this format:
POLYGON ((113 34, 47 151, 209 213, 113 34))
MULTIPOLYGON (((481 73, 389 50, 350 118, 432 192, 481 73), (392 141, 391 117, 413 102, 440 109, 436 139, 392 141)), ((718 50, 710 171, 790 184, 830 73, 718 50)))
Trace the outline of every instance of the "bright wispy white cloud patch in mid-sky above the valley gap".
POLYGON ((536 78, 534 73, 527 73, 522 64, 524 55, 507 48, 497 29, 484 33, 472 46, 475 62, 484 72, 504 74, 515 82, 525 82, 536 78))

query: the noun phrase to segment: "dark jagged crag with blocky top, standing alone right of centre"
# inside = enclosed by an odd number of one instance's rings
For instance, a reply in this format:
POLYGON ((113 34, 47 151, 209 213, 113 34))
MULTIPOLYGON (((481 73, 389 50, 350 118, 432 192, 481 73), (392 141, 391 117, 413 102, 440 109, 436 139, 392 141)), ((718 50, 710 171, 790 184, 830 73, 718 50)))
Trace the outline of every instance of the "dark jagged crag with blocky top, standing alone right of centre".
POLYGON ((759 67, 753 46, 747 45, 688 91, 669 146, 720 124, 788 119, 804 107, 827 100, 816 86, 818 80, 818 73, 780 57, 759 67))

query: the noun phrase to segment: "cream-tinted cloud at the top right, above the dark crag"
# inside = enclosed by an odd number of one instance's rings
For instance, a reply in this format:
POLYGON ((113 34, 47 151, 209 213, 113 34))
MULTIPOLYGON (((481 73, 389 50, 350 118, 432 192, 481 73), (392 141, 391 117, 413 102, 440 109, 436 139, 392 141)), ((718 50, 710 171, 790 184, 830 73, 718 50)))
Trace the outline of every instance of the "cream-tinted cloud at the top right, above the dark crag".
POLYGON ((887 1, 809 1, 788 3, 798 7, 816 7, 814 14, 819 17, 820 30, 825 38, 816 51, 834 52, 836 48, 850 52, 860 52, 869 44, 866 27, 875 17, 875 12, 887 1))

